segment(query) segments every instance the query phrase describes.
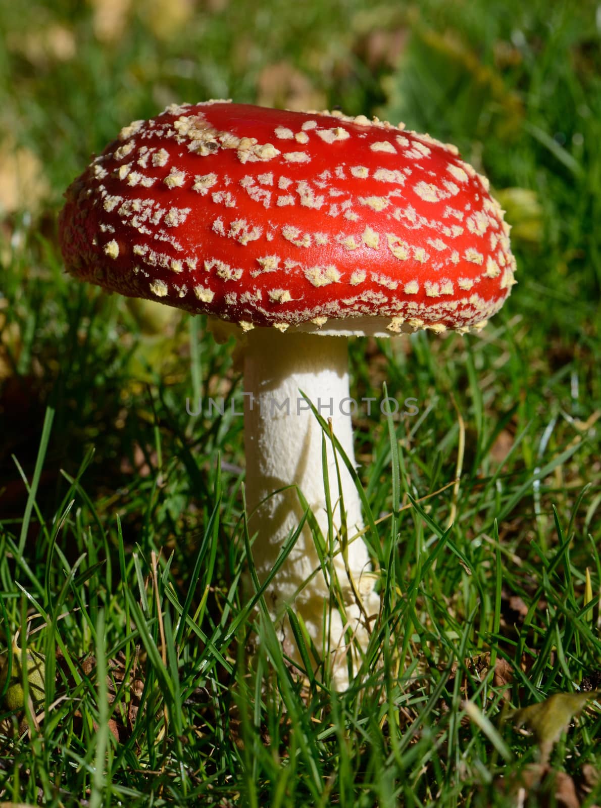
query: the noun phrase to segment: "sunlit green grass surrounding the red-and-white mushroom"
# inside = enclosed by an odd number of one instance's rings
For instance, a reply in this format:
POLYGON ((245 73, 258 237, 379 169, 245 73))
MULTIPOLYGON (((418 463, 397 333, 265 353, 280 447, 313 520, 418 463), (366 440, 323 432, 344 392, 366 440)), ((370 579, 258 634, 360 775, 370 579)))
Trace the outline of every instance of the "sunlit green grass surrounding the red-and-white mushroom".
MULTIPOLYGON (((271 0, 178 23, 154 0, 100 41, 100 5, 0 6, 0 174, 18 146, 44 179, 8 209, 0 183, 0 618, 47 659, 38 717, 0 715, 0 800, 510 804, 499 778, 537 745, 506 711, 601 681, 599 11, 271 0), (343 694, 296 681, 242 595, 242 419, 186 412, 240 392, 233 346, 76 284, 57 248, 91 151, 223 95, 405 120, 459 145, 514 225, 519 285, 480 336, 351 345, 351 394, 419 413, 355 423, 383 608, 343 694)), ((600 730, 591 701, 551 755, 584 806, 600 730)))

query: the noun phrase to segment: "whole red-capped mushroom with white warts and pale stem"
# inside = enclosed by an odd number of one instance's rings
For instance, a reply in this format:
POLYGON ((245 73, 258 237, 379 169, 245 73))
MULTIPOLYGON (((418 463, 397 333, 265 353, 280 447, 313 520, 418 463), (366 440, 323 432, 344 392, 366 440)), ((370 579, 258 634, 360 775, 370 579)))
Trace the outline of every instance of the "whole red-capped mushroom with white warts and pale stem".
POLYGON ((300 524, 298 491, 326 541, 329 507, 330 568, 306 522, 266 597, 292 659, 287 607, 345 688, 379 598, 364 541, 351 541, 363 522, 340 454, 355 466, 343 338, 465 333, 498 311, 515 260, 486 179, 455 147, 385 121, 208 101, 123 128, 66 199, 60 238, 74 276, 239 335, 258 579, 300 524), (331 418, 338 452, 303 395, 331 418), (324 608, 334 575, 342 600, 324 608))

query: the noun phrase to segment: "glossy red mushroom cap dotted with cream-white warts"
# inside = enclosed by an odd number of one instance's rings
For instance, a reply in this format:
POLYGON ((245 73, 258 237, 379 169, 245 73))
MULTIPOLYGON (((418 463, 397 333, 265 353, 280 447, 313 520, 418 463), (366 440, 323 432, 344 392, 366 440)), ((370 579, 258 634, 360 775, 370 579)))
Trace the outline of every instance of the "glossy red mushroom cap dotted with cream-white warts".
POLYGON ((364 116, 172 105, 122 129, 66 198, 69 272, 245 330, 466 330, 515 283, 486 179, 364 116))

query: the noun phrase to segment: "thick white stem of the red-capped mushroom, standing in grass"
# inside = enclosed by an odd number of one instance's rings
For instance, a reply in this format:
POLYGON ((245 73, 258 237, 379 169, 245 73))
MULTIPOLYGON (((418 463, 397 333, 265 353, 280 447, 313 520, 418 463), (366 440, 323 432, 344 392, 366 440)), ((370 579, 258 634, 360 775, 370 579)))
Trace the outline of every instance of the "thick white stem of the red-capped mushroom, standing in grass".
MULTIPOLYGON (((324 436, 299 390, 325 419, 331 418, 334 435, 355 465, 347 340, 299 333, 280 335, 271 329, 254 329, 247 335, 244 386, 247 394, 252 393, 252 398, 246 398, 245 406, 246 502, 251 514, 251 535, 257 534, 253 545, 254 565, 258 579, 263 581, 304 514, 296 488, 273 494, 275 490, 296 484, 309 503, 326 543, 328 541, 322 463, 324 436), (266 497, 267 501, 259 504, 266 497)), ((272 581, 266 600, 273 619, 281 625, 284 648, 292 659, 300 657, 283 618, 285 606, 293 604, 305 621, 320 656, 333 657, 334 686, 344 689, 348 684, 345 629, 350 628, 359 646, 365 649, 368 642, 365 615, 373 617, 377 613, 379 599, 372 591, 374 576, 367 549, 360 538, 349 543, 347 552, 348 572, 354 586, 348 577, 338 541, 342 521, 338 469, 349 539, 363 528, 360 499, 340 457, 337 469, 329 438, 326 438, 326 457, 334 523, 333 570, 328 570, 327 578, 331 579, 334 573, 338 578, 346 622, 338 608, 334 606, 330 610, 329 604, 335 604, 335 600, 330 601, 330 585, 320 570, 309 524, 305 524, 272 581), (316 570, 320 571, 315 574, 316 570), (362 604, 357 602, 359 592, 362 604), (329 625, 324 625, 324 601, 329 625)))

